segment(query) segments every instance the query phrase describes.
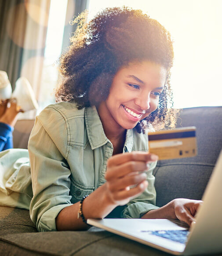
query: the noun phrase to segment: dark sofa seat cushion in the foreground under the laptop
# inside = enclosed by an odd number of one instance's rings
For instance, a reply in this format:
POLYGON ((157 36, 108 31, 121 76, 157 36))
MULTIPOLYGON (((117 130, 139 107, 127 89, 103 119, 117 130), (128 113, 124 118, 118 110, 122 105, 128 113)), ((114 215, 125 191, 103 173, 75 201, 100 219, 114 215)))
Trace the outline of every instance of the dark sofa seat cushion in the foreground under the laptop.
POLYGON ((29 211, 0 207, 0 255, 160 256, 164 252, 91 227, 88 231, 38 233, 29 211))

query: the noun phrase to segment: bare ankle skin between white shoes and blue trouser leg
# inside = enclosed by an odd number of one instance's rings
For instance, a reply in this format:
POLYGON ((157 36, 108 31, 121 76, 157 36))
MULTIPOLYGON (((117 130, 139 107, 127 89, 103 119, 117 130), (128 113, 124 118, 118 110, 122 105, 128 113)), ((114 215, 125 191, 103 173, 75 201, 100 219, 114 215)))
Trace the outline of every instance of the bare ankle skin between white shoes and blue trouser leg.
POLYGON ((21 110, 21 108, 17 106, 16 101, 8 101, 4 113, 2 114, 2 116, 0 116, 0 122, 9 124, 14 127, 19 112, 23 112, 23 110, 21 110))

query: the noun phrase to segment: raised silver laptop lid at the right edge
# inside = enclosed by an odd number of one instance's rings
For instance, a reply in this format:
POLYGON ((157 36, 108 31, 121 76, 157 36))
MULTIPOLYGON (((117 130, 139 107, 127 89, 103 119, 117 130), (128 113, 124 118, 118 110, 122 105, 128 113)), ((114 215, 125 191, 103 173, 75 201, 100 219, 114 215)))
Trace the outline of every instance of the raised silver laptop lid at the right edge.
POLYGON ((222 151, 191 227, 184 255, 222 252, 222 151))

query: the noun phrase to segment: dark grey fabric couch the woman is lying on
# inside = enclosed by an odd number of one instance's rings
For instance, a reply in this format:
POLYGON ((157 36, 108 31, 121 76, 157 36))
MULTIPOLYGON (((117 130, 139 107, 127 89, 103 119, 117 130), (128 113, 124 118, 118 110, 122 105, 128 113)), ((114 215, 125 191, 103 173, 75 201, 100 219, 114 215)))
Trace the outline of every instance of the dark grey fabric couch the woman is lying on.
MULTIPOLYGON (((14 147, 27 147, 33 124, 33 120, 17 122, 14 130, 14 147)), ((177 126, 197 127, 198 155, 158 161, 154 170, 158 206, 178 197, 201 199, 222 148, 222 106, 184 109, 177 126)), ((29 217, 29 211, 0 207, 0 255, 169 254, 95 227, 88 231, 38 233, 29 217)))

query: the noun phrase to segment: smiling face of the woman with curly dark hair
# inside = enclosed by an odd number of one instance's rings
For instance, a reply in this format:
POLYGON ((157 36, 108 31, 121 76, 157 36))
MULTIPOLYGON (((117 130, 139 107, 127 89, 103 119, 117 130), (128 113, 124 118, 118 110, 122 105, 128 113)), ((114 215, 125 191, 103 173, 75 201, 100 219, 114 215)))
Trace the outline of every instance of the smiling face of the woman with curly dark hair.
POLYGON ((144 61, 122 67, 113 78, 109 96, 98 107, 104 130, 131 129, 156 110, 166 81, 166 69, 144 61))

